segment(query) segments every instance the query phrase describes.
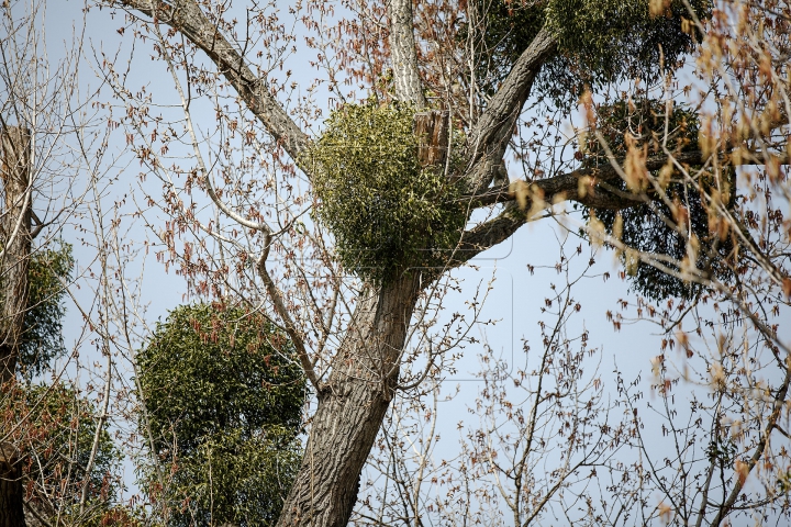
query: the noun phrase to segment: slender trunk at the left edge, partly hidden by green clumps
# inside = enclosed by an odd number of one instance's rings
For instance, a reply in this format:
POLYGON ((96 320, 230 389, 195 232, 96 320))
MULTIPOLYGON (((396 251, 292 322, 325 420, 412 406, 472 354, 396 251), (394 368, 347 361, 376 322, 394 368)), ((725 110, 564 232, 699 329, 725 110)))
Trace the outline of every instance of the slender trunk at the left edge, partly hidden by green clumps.
MULTIPOLYGON (((5 208, 0 220, 0 386, 3 386, 15 378, 27 304, 31 134, 25 127, 10 126, 0 133, 0 177, 5 193, 5 208)), ((13 445, 0 444, 0 527, 24 527, 23 498, 19 451, 13 445)))

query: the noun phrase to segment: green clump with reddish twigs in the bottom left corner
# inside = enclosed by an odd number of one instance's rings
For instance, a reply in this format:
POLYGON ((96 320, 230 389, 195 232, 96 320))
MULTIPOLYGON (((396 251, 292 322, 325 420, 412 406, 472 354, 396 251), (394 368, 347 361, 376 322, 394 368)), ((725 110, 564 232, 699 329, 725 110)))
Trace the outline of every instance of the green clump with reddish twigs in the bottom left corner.
POLYGON ((101 430, 88 472, 99 423, 96 405, 66 383, 19 383, 10 390, 3 393, 0 424, 12 430, 9 439, 25 452, 29 505, 40 516, 52 519, 59 515, 67 524, 103 525, 102 519, 114 514, 112 504, 121 490, 115 475, 122 455, 107 429, 101 430), (87 502, 79 515, 86 479, 87 502))

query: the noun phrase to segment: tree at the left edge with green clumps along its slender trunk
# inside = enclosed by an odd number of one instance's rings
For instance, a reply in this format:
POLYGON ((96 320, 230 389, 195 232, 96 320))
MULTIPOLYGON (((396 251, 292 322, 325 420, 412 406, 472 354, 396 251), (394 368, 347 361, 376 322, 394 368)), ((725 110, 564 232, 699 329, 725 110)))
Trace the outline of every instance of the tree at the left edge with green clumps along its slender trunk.
POLYGON ((70 246, 58 246, 58 218, 81 205, 70 179, 85 166, 80 159, 91 147, 83 143, 75 148, 64 139, 77 136, 75 132, 85 139, 88 132, 78 102, 79 35, 73 35, 74 46, 67 45, 63 54, 47 49, 45 11, 44 2, 0 7, 3 526, 36 525, 58 516, 62 522, 96 520, 94 498, 107 491, 107 404, 96 411, 73 384, 63 382, 63 370, 52 370, 54 359, 66 351, 62 317, 74 265, 70 246), (33 384, 48 373, 55 373, 52 385, 33 384))

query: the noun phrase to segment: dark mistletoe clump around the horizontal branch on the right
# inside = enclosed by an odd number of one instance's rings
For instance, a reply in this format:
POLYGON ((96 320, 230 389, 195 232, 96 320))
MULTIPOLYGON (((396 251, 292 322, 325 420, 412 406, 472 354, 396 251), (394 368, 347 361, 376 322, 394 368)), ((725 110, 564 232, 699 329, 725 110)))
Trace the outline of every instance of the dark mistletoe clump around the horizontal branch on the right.
MULTIPOLYGON (((606 139, 608 146, 616 156, 625 156, 627 145, 625 137, 631 135, 636 139, 634 147, 648 147, 648 153, 656 153, 659 149, 659 141, 665 130, 666 105, 665 101, 642 100, 632 105, 625 101, 617 101, 612 104, 602 104, 597 109, 597 127, 606 139)), ((670 150, 683 152, 698 147, 699 122, 697 114, 686 106, 675 106, 668 115, 668 142, 670 150)), ((606 164, 602 146, 595 138, 590 138, 586 148, 583 164, 595 166, 606 164)), ((655 173, 657 176, 658 173, 655 173)), ((665 183, 664 192, 671 203, 683 206, 688 211, 690 231, 700 243, 698 253, 698 269, 717 276, 720 279, 727 279, 731 276, 728 266, 723 265, 733 251, 733 244, 729 238, 720 239, 709 228, 709 213, 703 205, 700 191, 689 182, 684 183, 677 177, 670 177, 665 183)), ((708 186, 702 182, 705 190, 708 186)), ((733 182, 731 182, 733 183, 733 182)), ((620 181, 615 188, 622 192, 628 192, 626 182, 620 181)), ((731 188, 734 188, 731 184, 731 188)), ((621 215, 623 227, 621 239, 628 247, 638 251, 665 255, 676 261, 681 261, 687 255, 687 240, 676 229, 673 214, 665 202, 651 189, 646 189, 647 195, 651 198, 648 203, 625 209, 620 212, 611 210, 594 210, 599 220, 602 221, 608 232, 613 232, 615 218, 621 215)), ((734 195, 729 193, 728 203, 733 205, 734 195)), ((630 271, 632 287, 635 291, 651 299, 660 300, 668 296, 690 298, 699 288, 694 283, 680 280, 667 274, 656 268, 639 261, 634 256, 625 253, 622 256, 626 269, 630 271)), ((678 266, 667 264, 673 270, 680 270, 678 266)))

